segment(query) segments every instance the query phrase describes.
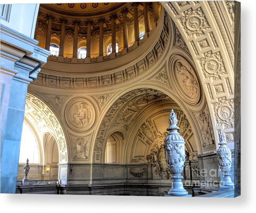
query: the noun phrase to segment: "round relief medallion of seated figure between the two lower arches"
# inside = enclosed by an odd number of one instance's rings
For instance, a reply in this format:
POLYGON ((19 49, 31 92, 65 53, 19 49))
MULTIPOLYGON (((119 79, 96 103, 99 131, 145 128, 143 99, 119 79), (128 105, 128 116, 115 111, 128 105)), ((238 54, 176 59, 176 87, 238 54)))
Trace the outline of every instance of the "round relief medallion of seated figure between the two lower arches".
POLYGON ((89 130, 94 124, 95 114, 94 106, 85 98, 72 99, 65 109, 67 125, 77 132, 89 130))

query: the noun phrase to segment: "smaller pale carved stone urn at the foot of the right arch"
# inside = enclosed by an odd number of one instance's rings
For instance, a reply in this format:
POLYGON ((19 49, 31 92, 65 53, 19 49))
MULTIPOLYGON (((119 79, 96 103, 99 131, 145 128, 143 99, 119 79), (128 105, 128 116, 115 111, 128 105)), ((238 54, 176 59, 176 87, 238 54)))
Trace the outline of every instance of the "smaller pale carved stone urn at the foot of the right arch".
POLYGON ((223 181, 220 183, 220 187, 234 187, 234 183, 231 180, 231 167, 232 167, 232 159, 231 159, 231 151, 227 147, 226 135, 224 132, 220 131, 219 134, 219 149, 217 150, 217 158, 219 167, 223 172, 223 181))

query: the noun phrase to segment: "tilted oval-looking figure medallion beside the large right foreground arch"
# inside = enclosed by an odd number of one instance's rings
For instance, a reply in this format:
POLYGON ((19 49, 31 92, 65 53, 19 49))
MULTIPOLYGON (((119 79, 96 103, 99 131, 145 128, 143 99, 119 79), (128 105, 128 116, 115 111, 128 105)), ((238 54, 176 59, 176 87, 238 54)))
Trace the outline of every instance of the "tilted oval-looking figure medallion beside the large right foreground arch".
POLYGON ((197 103, 201 97, 201 88, 190 63, 183 57, 175 56, 170 70, 172 81, 179 95, 190 104, 197 103))

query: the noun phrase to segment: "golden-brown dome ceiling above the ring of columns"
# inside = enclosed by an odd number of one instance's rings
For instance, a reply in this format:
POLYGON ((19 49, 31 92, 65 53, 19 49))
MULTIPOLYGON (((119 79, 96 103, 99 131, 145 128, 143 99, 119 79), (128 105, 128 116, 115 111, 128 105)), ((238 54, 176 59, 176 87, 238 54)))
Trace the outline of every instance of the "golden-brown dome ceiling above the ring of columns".
POLYGON ((101 15, 120 9, 129 3, 118 2, 95 2, 95 3, 62 3, 62 4, 41 4, 45 9, 62 15, 79 16, 79 15, 101 15))

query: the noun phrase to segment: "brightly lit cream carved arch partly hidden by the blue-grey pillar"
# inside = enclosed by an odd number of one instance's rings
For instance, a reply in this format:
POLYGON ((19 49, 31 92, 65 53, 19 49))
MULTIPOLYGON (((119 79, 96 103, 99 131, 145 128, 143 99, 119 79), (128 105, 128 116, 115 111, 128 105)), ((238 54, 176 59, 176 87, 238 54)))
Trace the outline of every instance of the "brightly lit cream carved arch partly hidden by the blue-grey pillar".
POLYGON ((64 136, 61 123, 52 112, 52 110, 38 97, 27 94, 25 118, 33 118, 33 125, 37 126, 41 136, 44 133, 51 132, 54 136, 58 150, 59 150, 59 163, 68 162, 68 151, 66 145, 66 137, 64 136))

